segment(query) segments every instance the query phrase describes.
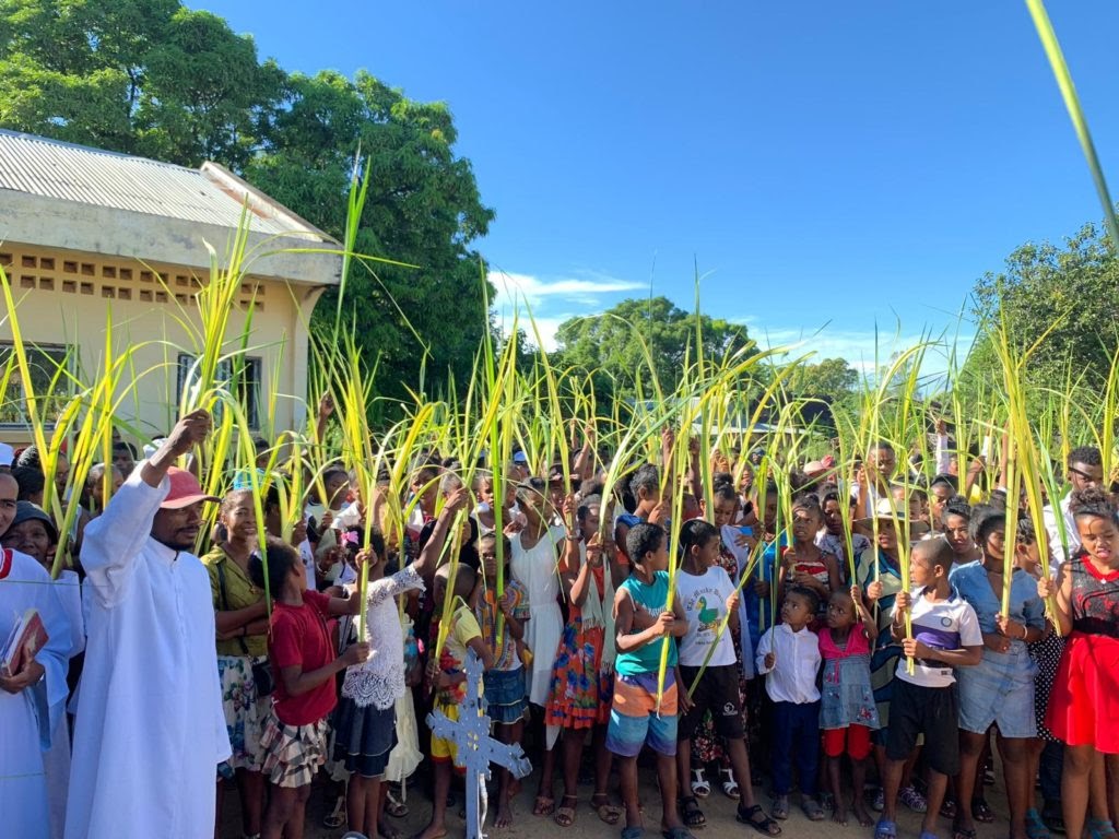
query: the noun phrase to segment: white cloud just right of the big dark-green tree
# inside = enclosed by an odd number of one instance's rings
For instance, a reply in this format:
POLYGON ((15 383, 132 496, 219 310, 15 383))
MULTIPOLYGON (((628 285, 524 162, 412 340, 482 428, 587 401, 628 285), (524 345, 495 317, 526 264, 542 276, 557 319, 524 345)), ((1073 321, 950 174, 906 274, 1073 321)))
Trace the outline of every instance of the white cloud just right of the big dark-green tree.
POLYGON ((544 349, 556 348, 556 332, 560 324, 570 318, 598 314, 615 302, 623 292, 638 291, 641 283, 619 280, 598 272, 582 272, 580 276, 542 277, 534 274, 514 274, 506 271, 490 271, 493 284, 493 310, 502 331, 513 328, 517 313, 520 329, 530 341, 536 342, 528 315, 532 313, 540 333, 544 349), (609 300, 606 300, 609 299, 609 300))

